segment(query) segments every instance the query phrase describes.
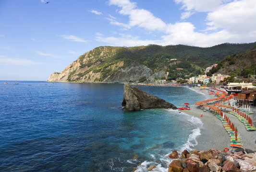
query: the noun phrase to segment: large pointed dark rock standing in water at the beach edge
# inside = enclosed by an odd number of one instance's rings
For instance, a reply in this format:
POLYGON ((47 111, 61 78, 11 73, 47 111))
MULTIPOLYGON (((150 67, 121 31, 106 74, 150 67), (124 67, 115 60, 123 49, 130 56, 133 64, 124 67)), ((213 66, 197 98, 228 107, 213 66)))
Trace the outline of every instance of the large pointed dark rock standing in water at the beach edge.
POLYGON ((149 108, 172 108, 177 109, 173 104, 166 102, 164 99, 150 95, 145 91, 128 84, 123 86, 123 110, 134 111, 149 108))

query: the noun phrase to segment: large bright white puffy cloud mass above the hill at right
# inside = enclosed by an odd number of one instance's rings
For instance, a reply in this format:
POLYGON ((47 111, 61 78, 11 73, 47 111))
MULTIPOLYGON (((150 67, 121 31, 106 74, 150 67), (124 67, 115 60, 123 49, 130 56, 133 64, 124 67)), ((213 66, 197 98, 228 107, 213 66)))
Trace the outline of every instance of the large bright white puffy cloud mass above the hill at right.
POLYGON ((213 46, 219 43, 244 43, 256 41, 256 3, 254 0, 175 0, 182 3, 181 19, 187 19, 196 12, 206 12, 206 28, 196 31, 191 22, 165 23, 145 9, 139 9, 137 4, 130 0, 110 0, 110 5, 119 8, 118 13, 128 16, 128 22, 117 22, 116 18, 109 18, 113 25, 125 29, 140 27, 150 32, 162 32, 157 40, 141 40, 136 36, 107 36, 96 35, 100 42, 111 45, 134 46, 146 44, 189 44, 195 46, 213 46), (208 33, 209 31, 209 33, 208 33), (122 43, 122 44, 120 44, 122 43))

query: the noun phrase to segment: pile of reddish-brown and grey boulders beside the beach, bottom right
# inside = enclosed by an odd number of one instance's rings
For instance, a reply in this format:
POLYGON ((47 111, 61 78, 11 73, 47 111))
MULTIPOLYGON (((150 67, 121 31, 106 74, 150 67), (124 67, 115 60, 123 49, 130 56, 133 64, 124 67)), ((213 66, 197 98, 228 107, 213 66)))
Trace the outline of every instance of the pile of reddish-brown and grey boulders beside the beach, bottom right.
POLYGON ((183 158, 183 151, 180 159, 169 164, 168 172, 256 172, 256 153, 253 150, 247 151, 252 152, 250 158, 246 157, 247 154, 243 153, 243 149, 230 150, 229 152, 210 149, 200 152, 190 151, 189 154, 186 154, 186 159, 183 158), (237 159, 237 155, 241 159, 237 159), (219 160, 219 157, 223 157, 221 158, 222 161, 219 160))

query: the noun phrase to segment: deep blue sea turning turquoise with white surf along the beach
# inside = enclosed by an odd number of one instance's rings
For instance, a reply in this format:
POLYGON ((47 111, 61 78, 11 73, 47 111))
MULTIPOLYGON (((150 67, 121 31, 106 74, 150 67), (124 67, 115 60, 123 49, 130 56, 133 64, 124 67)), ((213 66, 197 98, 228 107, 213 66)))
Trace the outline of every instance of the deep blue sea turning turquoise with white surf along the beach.
MULTIPOLYGON (((177 107, 207 99, 185 86, 137 87, 177 107)), ((0 81, 0 172, 167 172, 172 150, 193 150, 199 118, 125 112, 122 98, 123 84, 0 81)))

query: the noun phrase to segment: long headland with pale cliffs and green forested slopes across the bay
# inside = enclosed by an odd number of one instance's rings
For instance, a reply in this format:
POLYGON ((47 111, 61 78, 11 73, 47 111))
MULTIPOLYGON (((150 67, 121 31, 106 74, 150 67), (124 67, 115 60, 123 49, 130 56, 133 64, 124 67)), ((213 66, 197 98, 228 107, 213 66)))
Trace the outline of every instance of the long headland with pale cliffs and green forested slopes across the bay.
POLYGON ((189 62, 195 71, 195 68, 205 68, 229 54, 244 53, 254 45, 256 43, 223 43, 207 48, 187 45, 101 46, 80 55, 61 73, 50 75, 48 81, 138 82, 143 77, 152 82, 181 62, 189 62))

